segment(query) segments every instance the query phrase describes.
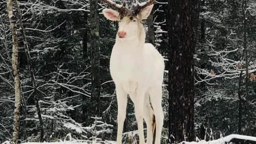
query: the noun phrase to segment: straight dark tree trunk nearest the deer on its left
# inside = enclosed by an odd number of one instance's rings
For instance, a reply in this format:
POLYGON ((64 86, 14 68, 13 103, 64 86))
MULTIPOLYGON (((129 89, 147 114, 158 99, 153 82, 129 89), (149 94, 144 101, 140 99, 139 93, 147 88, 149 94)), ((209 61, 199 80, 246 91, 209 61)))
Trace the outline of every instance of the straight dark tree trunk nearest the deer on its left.
POLYGON ((99 116, 100 105, 100 28, 98 0, 90 1, 91 15, 91 114, 99 116))

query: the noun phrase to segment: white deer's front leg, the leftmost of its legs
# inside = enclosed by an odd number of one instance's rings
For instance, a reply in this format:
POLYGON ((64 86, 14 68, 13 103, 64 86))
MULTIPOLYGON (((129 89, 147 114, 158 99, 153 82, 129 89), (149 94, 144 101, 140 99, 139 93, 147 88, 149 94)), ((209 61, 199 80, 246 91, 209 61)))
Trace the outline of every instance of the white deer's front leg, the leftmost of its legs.
POLYGON ((121 86, 116 86, 117 94, 117 144, 122 144, 123 124, 126 117, 127 94, 121 86))

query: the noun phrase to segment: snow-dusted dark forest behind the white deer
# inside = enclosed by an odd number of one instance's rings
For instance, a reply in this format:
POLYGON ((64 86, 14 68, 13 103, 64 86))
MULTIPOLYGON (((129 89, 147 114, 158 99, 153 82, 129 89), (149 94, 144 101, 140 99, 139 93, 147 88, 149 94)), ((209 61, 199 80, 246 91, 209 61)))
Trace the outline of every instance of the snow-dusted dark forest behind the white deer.
MULTIPOLYGON (((106 1, 0 0, 0 143, 116 144, 106 1)), ((152 0, 111 2, 124 1, 152 0)), ((161 143, 255 138, 256 1, 155 0, 142 23, 165 62, 161 143)), ((122 137, 141 144, 129 97, 122 137)))

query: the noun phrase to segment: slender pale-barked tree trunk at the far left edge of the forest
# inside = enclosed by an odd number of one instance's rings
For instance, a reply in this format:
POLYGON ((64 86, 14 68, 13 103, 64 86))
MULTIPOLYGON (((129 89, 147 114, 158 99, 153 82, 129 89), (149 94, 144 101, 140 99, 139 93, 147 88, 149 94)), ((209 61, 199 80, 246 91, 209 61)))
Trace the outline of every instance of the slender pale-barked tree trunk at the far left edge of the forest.
POLYGON ((18 38, 16 17, 13 15, 12 0, 7 1, 7 12, 12 30, 12 71, 14 74, 15 87, 15 105, 14 105, 14 132, 12 133, 12 142, 17 143, 20 129, 20 108, 21 108, 21 87, 18 71, 18 38))

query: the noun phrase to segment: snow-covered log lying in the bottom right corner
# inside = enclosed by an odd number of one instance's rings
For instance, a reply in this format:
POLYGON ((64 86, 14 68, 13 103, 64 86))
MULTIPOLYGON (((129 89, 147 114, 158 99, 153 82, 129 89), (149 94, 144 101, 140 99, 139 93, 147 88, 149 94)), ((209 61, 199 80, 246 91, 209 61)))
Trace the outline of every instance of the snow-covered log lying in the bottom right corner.
POLYGON ((251 140, 256 142, 256 137, 247 136, 247 135, 240 135, 240 134, 230 134, 226 137, 222 137, 216 140, 201 140, 199 142, 181 142, 181 144, 224 144, 225 142, 230 142, 232 139, 241 139, 241 140, 251 140))

